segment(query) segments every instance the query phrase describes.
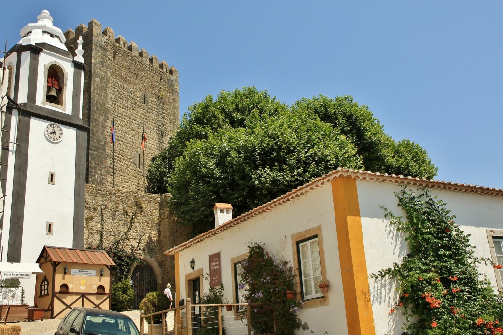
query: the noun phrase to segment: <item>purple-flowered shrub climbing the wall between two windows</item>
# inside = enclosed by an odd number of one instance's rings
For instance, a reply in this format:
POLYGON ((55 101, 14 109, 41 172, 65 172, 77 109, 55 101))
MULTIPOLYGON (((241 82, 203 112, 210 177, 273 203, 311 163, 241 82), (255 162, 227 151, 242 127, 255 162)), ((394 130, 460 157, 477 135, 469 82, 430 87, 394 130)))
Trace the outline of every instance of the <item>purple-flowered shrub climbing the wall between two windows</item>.
POLYGON ((300 326, 297 312, 302 302, 287 299, 286 291, 294 291, 294 271, 289 262, 275 260, 260 244, 247 244, 249 256, 241 262, 240 288, 248 303, 265 303, 250 306, 251 328, 260 333, 274 332, 291 335, 300 326), (272 312, 271 312, 272 311, 272 312))

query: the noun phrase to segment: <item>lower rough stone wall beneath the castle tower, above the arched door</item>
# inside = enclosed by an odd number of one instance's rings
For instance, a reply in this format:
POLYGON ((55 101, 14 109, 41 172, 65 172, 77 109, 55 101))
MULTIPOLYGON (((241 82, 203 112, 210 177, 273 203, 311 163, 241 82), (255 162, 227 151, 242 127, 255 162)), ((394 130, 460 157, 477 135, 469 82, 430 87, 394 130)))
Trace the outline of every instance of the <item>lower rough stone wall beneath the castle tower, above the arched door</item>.
POLYGON ((132 222, 124 247, 136 248, 142 258, 160 275, 158 289, 170 282, 176 285, 174 257, 164 251, 189 239, 190 230, 180 226, 167 210, 169 194, 144 194, 121 188, 86 185, 84 246, 103 241, 109 245, 122 239, 132 222))

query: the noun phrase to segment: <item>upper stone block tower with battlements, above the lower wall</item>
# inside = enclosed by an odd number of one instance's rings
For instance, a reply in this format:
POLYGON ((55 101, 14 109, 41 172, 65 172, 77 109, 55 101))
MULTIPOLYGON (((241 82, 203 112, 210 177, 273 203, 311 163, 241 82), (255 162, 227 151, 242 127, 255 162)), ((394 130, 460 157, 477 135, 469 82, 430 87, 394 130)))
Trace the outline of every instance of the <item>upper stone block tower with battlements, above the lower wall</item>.
POLYGON ((65 32, 69 50, 82 36, 87 67, 82 102, 83 122, 90 126, 87 182, 112 186, 115 118, 115 187, 143 191, 143 127, 147 136, 145 164, 167 146, 180 121, 179 76, 173 66, 138 50, 134 42, 115 37, 111 28, 91 20, 65 32))

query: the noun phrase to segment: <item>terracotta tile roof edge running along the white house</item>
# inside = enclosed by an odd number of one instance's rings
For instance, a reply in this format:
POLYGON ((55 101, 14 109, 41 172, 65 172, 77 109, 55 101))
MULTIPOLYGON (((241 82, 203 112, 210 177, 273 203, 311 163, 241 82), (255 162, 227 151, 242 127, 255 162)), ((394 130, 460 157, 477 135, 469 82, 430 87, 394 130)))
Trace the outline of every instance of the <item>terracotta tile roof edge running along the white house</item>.
POLYGON ((318 184, 324 184, 327 181, 331 181, 335 178, 338 177, 349 177, 349 178, 356 178, 359 180, 367 180, 367 181, 380 181, 380 182, 389 182, 389 183, 394 183, 394 184, 401 184, 401 185, 409 185, 409 186, 416 186, 416 187, 430 187, 430 188, 437 188, 437 189, 449 189, 452 191, 458 191, 458 192, 469 192, 469 193, 477 193, 477 194, 486 194, 486 195, 494 195, 494 196, 503 196, 503 189, 499 188, 492 188, 492 187, 485 187, 485 186, 478 186, 478 185, 467 185, 467 184, 461 184, 461 183, 455 183, 455 182, 449 182, 449 181, 440 181, 440 180, 434 180, 434 179, 427 179, 427 178, 419 178, 419 177, 411 177, 411 176, 403 176, 403 175, 396 175, 396 174, 388 174, 388 173, 380 173, 380 172, 372 172, 372 171, 363 171, 363 170, 352 170, 352 169, 346 169, 346 168, 338 168, 337 170, 330 171, 328 173, 323 174, 320 177, 316 177, 310 182, 305 183, 302 186, 299 186, 297 188, 294 188, 293 190, 278 196, 277 198, 270 200, 266 202, 265 204, 259 205, 256 208, 250 209, 249 211, 242 213, 239 216, 234 217, 233 219, 225 222, 225 224, 213 228, 205 233, 202 233, 196 237, 193 237, 192 239, 175 246, 171 248, 170 250, 167 250, 164 252, 166 255, 174 255, 177 252, 182 251, 183 249, 186 249, 192 245, 195 245, 196 243, 206 240, 210 236, 214 236, 218 234, 220 231, 227 230, 233 226, 236 226, 240 224, 241 222, 244 222, 248 220, 251 217, 254 217, 261 212, 265 212, 266 210, 264 207, 267 207, 267 210, 271 209, 271 207, 276 207, 278 204, 284 203, 286 201, 290 201, 294 197, 298 197, 300 195, 303 195, 307 192, 310 191, 308 188, 309 186, 317 186, 319 187, 318 184), (449 186, 446 186, 449 185, 449 186))

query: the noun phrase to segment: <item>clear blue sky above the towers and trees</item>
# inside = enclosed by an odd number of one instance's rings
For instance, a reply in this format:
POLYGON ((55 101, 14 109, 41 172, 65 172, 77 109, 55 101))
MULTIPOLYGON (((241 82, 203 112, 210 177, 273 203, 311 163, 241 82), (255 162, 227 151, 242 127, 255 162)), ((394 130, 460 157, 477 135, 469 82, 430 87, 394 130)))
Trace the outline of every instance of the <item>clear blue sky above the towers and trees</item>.
POLYGON ((2 49, 44 9, 63 32, 94 18, 179 70, 182 115, 243 86, 288 104, 350 94, 422 145, 436 179, 503 188, 503 2, 41 3, 4 5, 2 49))

